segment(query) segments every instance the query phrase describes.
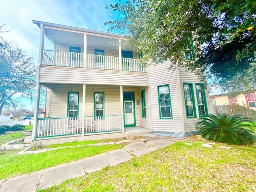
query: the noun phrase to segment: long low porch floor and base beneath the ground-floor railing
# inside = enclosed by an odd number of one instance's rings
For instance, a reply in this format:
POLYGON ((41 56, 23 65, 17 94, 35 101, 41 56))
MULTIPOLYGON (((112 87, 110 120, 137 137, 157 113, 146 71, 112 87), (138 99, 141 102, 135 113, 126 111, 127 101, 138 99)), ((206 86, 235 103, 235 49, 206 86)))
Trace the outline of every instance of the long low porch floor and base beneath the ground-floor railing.
POLYGON ((135 136, 142 134, 152 134, 153 131, 147 128, 142 128, 140 126, 136 127, 126 127, 124 128, 124 133, 106 133, 106 134, 95 134, 95 135, 86 135, 82 137, 80 134, 78 135, 70 135, 70 136, 56 136, 56 137, 47 137, 47 138, 37 138, 36 141, 42 142, 42 145, 50 145, 57 143, 66 143, 72 141, 87 141, 87 140, 100 140, 100 139, 114 139, 114 138, 124 138, 127 136, 135 136))

